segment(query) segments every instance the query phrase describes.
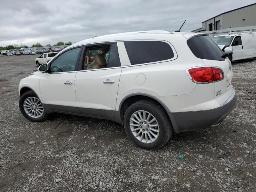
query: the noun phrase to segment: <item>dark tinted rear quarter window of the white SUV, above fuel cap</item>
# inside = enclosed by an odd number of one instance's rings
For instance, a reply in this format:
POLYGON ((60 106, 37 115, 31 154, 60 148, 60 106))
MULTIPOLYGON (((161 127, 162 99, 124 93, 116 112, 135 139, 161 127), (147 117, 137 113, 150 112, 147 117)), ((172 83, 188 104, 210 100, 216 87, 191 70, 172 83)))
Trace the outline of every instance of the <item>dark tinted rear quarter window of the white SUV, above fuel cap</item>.
POLYGON ((124 46, 132 65, 159 62, 174 57, 170 45, 162 41, 125 41, 124 46))

